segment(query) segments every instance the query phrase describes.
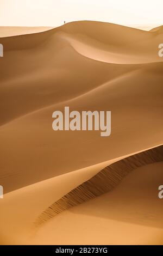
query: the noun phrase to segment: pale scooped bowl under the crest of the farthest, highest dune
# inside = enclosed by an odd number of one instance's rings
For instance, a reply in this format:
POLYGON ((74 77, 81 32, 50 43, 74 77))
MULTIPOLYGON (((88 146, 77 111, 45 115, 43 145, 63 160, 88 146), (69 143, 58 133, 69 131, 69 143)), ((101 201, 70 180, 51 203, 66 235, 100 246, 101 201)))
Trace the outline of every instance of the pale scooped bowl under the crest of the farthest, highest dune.
POLYGON ((61 30, 70 44, 84 56, 102 62, 139 64, 159 62, 158 45, 162 33, 117 26, 104 22, 72 23, 61 30), (71 33, 70 33, 70 31, 71 33))

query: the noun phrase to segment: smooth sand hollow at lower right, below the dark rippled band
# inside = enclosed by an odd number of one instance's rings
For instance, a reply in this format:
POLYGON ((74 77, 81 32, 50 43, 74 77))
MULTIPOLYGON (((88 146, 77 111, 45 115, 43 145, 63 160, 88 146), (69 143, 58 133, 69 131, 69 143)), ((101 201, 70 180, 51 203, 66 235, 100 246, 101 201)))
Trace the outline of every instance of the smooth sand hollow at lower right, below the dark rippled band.
POLYGON ((37 230, 33 243, 162 245, 162 166, 137 168, 111 192, 62 212, 37 230))

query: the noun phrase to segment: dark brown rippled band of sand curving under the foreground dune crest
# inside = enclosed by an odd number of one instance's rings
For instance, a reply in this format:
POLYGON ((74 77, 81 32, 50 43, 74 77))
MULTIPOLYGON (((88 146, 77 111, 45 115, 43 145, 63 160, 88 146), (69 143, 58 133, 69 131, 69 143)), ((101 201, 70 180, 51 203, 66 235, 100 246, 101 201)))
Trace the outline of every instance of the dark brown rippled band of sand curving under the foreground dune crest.
POLYGON ((70 193, 49 206, 36 220, 36 225, 48 221, 64 210, 111 191, 134 169, 161 161, 163 161, 163 145, 110 164, 90 180, 74 188, 70 193))

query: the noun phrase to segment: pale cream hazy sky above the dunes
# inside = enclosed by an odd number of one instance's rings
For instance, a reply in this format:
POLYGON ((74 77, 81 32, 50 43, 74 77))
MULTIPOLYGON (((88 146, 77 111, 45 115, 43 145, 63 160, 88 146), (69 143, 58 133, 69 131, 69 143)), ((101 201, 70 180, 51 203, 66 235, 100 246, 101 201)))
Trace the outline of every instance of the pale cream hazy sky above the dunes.
POLYGON ((163 25, 163 0, 0 0, 0 26, 60 26, 75 20, 163 25))

